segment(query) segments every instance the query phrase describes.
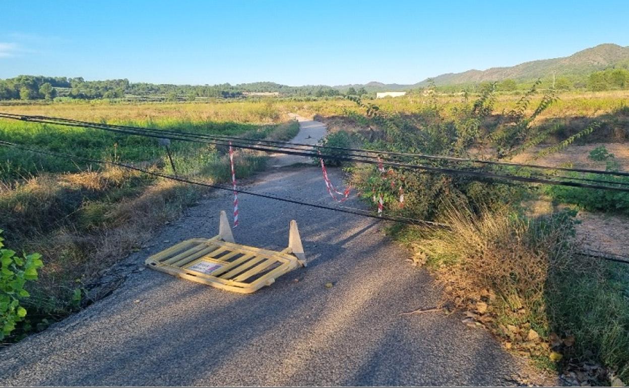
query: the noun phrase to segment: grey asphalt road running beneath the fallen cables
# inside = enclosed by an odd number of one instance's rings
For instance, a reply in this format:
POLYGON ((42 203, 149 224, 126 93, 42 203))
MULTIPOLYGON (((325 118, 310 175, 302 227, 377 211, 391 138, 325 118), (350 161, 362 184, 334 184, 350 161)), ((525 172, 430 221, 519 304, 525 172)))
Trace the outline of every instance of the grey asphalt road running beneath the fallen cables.
MULTIPOLYGON (((338 169, 329 174, 342 178, 338 169)), ((331 201, 315 167, 274 169, 246 189, 331 201)), ((236 240, 286 247, 296 219, 308 267, 250 295, 142 270, 145 258, 178 241, 216 235, 218 212, 232 201, 220 191, 188 209, 118 265, 128 276, 111 296, 2 350, 0 384, 557 384, 458 314, 401 315, 437 305, 441 292, 374 219, 249 196, 238 204, 236 240)))

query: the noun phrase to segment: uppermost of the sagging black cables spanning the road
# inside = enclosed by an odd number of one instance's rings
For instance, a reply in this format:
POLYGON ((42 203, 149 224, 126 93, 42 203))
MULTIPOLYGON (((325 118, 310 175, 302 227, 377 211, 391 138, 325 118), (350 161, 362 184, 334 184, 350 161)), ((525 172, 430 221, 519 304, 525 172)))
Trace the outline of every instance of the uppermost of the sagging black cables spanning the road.
MULTIPOLYGON (((10 118, 10 119, 19 119, 22 121, 35 121, 33 119, 50 119, 57 121, 67 121, 72 123, 81 123, 85 125, 100 125, 98 123, 90 123, 89 121, 79 121, 73 119, 64 119, 64 118, 55 118, 50 116, 29 116, 25 114, 14 114, 14 113, 0 113, 0 117, 10 118)), ((38 121, 35 121, 38 122, 38 121)), ((54 124, 54 123, 50 123, 54 124)), ((202 135, 197 133, 191 133, 186 131, 170 131, 170 130, 153 130, 151 128, 142 128, 136 126, 123 126, 123 125, 102 125, 102 126, 111 126, 112 128, 120 128, 120 129, 128 129, 128 130, 138 130, 138 131, 159 131, 160 133, 170 133, 172 135, 183 135, 183 136, 196 136, 203 138, 204 136, 211 138, 223 138, 226 140, 232 141, 249 141, 255 143, 269 143, 269 144, 283 144, 287 145, 287 148, 293 148, 294 146, 299 147, 310 147, 310 148, 320 148, 320 149, 332 149, 332 150, 343 150, 350 152, 362 152, 362 153, 376 153, 381 155, 396 155, 396 156, 404 156, 404 157, 415 157, 415 158, 425 158, 425 159, 436 159, 436 160, 448 160, 450 162, 471 162, 471 163, 480 163, 480 164, 491 164, 491 165, 503 165, 503 166, 511 166, 511 167, 528 167, 532 169, 542 169, 542 170, 559 170, 559 171, 567 171, 567 172, 590 172, 593 174, 603 174, 603 175, 620 175, 620 176, 628 176, 629 172, 615 172, 615 171, 605 171, 605 170, 592 170, 592 169, 574 169, 568 167, 548 167, 543 165, 526 165, 526 164, 518 164, 513 162, 498 162, 494 160, 481 160, 481 159, 472 159, 472 158, 457 158, 457 157, 447 157, 442 155, 425 155, 421 153, 406 153, 406 152, 392 152, 392 151, 384 151, 384 150, 365 150, 360 148, 347 148, 347 147, 333 147, 333 146, 324 146, 324 145, 309 145, 304 143, 289 143, 287 141, 274 141, 274 140, 255 140, 248 138, 238 138, 238 137, 230 137, 223 135, 202 135)), ((102 129, 102 128, 101 128, 102 129)), ((285 148, 285 147, 281 147, 285 148)), ((365 155, 360 155, 365 157, 365 155)))

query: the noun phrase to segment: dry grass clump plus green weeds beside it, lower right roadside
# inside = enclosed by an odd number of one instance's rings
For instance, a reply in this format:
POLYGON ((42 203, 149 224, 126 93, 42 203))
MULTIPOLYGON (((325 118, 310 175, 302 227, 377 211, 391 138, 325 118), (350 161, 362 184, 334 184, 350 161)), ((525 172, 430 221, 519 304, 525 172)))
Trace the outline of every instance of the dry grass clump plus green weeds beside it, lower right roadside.
POLYGON ((626 268, 574 253, 567 212, 525 218, 508 209, 480 216, 446 212, 452 230, 405 230, 445 290, 444 305, 467 310, 464 322, 484 325, 504 346, 567 374, 584 362, 603 365, 583 382, 629 379, 629 287, 626 268))

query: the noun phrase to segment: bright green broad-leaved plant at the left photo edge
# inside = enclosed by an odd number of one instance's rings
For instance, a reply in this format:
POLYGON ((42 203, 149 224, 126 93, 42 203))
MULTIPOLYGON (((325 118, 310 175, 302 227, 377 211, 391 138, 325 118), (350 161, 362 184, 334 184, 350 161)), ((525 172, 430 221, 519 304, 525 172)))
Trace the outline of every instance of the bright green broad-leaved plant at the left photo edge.
POLYGON ((2 241, 4 238, 0 237, 0 340, 11 334, 16 323, 26 316, 26 309, 19 303, 30 296, 24 285, 37 280, 37 269, 43 265, 39 253, 18 257, 15 251, 3 249, 2 241))

